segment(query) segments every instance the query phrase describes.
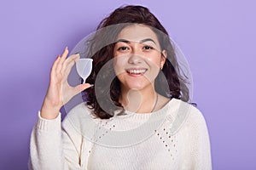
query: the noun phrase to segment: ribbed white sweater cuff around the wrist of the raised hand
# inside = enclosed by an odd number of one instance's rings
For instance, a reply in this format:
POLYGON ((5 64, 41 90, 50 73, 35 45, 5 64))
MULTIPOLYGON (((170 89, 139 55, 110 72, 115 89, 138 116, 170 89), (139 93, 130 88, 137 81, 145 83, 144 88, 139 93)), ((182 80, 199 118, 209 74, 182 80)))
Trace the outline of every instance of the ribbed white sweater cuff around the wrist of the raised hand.
POLYGON ((44 119, 38 111, 38 122, 36 127, 43 131, 52 131, 61 128, 61 112, 55 119, 44 119))

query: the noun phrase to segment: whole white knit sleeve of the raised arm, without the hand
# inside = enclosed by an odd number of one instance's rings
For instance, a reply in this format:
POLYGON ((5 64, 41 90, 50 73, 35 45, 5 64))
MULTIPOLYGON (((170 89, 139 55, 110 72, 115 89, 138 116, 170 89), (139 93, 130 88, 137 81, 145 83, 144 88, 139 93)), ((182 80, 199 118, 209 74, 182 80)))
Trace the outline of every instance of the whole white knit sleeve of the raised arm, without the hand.
POLYGON ((29 169, 80 168, 82 137, 72 132, 73 128, 67 121, 64 120, 63 125, 61 127, 61 114, 53 120, 46 120, 38 114, 31 135, 29 169))

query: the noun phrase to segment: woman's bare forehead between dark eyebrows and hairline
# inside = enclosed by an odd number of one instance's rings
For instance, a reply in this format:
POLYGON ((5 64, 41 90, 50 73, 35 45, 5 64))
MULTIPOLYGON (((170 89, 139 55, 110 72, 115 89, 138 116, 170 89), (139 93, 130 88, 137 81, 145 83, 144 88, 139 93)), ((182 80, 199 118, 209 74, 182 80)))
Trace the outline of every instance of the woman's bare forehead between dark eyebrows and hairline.
POLYGON ((131 42, 140 42, 143 39, 151 38, 154 42, 158 43, 158 38, 154 31, 148 26, 134 24, 131 26, 126 26, 122 31, 120 31, 117 39, 125 39, 131 42))

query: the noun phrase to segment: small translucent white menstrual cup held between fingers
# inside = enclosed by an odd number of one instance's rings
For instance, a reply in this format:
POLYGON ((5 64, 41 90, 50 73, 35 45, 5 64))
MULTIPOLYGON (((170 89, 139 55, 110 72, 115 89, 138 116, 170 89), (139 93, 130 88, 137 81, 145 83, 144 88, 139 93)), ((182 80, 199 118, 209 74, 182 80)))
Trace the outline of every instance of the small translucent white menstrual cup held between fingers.
POLYGON ((89 77, 91 69, 92 69, 92 59, 76 59, 76 67, 79 73, 79 76, 85 80, 89 77))

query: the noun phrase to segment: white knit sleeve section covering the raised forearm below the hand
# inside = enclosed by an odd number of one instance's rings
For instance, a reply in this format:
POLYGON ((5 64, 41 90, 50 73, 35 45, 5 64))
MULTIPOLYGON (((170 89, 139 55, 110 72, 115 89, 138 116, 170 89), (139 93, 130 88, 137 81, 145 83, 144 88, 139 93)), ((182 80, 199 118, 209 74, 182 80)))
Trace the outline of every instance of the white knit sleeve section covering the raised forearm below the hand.
POLYGON ((29 169, 66 167, 62 157, 61 115, 51 120, 38 115, 38 122, 32 129, 29 169))

